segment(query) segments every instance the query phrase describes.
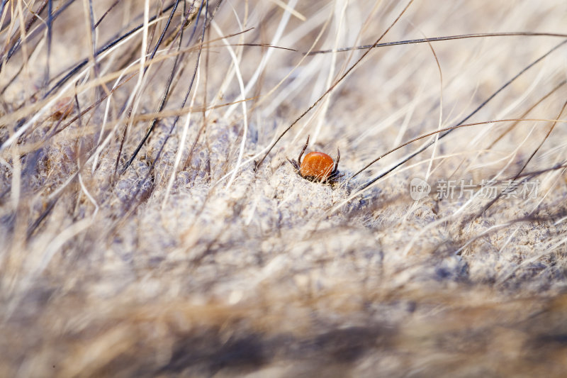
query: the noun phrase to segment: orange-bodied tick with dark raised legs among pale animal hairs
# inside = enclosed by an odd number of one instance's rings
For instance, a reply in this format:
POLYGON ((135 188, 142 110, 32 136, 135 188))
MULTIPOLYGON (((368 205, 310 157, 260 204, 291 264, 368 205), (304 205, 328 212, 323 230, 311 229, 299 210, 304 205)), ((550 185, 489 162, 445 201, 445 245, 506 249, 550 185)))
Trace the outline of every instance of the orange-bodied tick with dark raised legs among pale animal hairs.
MULTIPOLYGON (((307 137, 307 142, 303 146, 299 157, 296 160, 289 160, 296 172, 303 177, 313 182, 322 182, 324 184, 333 184, 342 175, 339 174, 339 160, 341 158, 341 152, 337 148, 337 162, 335 162, 335 168, 333 168, 332 157, 323 152, 309 152, 305 155, 303 162, 301 161, 301 156, 305 152, 305 148, 309 144, 309 136, 307 137)), ((286 158, 287 159, 287 158, 286 158)))

